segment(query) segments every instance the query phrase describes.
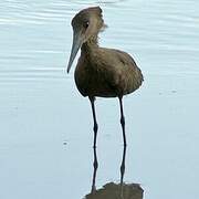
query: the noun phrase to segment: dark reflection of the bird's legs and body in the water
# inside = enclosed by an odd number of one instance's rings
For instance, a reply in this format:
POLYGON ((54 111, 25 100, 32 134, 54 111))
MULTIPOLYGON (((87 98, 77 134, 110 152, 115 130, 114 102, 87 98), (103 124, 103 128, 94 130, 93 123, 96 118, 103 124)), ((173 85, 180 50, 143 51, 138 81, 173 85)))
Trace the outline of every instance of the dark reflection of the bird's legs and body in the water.
POLYGON ((115 184, 113 181, 106 184, 101 189, 96 189, 95 180, 98 168, 96 148, 93 149, 94 161, 93 161, 93 180, 91 193, 85 196, 85 199, 143 199, 144 190, 138 184, 125 184, 125 158, 126 147, 123 150, 123 158, 121 164, 121 182, 115 184))

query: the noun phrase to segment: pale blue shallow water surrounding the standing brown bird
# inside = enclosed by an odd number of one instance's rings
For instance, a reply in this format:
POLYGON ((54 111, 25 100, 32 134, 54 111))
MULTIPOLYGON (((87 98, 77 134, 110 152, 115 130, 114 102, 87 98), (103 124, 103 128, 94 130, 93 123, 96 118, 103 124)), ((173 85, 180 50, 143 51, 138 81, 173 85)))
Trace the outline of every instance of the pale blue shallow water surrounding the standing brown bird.
MULTIPOLYGON (((92 189, 92 113, 67 75, 71 19, 100 4, 101 44, 133 54, 145 82, 124 98, 126 184, 145 199, 199 197, 199 1, 0 2, 0 198, 77 199, 92 189)), ((119 182, 117 100, 97 100, 96 188, 119 182)))

